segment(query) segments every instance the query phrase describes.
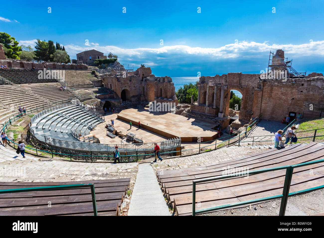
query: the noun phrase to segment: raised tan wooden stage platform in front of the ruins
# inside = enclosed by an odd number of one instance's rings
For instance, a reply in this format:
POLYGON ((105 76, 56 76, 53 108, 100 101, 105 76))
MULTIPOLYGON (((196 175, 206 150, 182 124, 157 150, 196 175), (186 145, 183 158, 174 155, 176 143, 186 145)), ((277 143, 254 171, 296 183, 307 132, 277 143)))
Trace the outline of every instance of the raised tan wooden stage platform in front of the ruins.
POLYGON ((217 131, 211 129, 215 124, 169 112, 130 108, 122 110, 117 118, 126 122, 132 121, 134 126, 138 126, 140 121, 143 129, 168 138, 181 137, 181 142, 197 142, 198 137, 203 137, 203 141, 206 142, 217 137, 217 131))

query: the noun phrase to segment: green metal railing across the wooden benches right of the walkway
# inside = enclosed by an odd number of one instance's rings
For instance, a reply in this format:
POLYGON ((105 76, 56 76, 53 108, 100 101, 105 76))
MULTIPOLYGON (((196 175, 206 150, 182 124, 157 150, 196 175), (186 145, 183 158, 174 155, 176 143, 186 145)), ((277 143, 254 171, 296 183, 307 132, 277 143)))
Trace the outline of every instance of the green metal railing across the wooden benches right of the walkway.
POLYGON ((237 207, 237 206, 240 206, 240 205, 258 203, 258 202, 273 200, 273 199, 277 199, 277 198, 282 198, 281 199, 279 216, 284 216, 286 206, 287 206, 288 197, 324 188, 324 185, 321 185, 321 186, 318 186, 318 187, 311 187, 311 188, 307 188, 307 189, 304 189, 304 190, 289 193, 294 168, 298 168, 298 167, 302 167, 302 166, 306 166, 306 165, 311 165, 311 164, 318 164, 318 163, 321 163, 321 162, 324 162, 324 159, 311 161, 311 162, 305 162, 305 163, 301 163, 301 164, 295 164, 295 165, 285 165, 285 166, 274 167, 274 168, 269 168, 269 169, 255 170, 255 171, 251 171, 251 172, 248 172, 248 173, 247 172, 240 172, 240 173, 236 173, 234 175, 222 175, 222 176, 215 176, 215 177, 211 177, 211 178, 203 178, 203 179, 192 180, 192 216, 195 216, 196 214, 200 214, 200 213, 204 213, 204 212, 211 212, 211 211, 216 211, 216 210, 221 210, 221 209, 226 209, 226 208, 232 208, 232 207, 237 207), (215 180, 219 180, 219 179, 231 178, 231 177, 236 177, 236 176, 256 175, 256 174, 261 174, 261 173, 265 173, 265 172, 276 171, 276 170, 284 170, 284 169, 286 170, 285 180, 284 180, 284 188, 283 188, 283 193, 280 194, 280 195, 275 195, 275 196, 271 196, 271 197, 253 199, 253 200, 237 202, 237 203, 228 204, 228 205, 222 205, 222 206, 216 206, 216 207, 212 207, 212 208, 196 210, 196 184, 215 181, 215 180))

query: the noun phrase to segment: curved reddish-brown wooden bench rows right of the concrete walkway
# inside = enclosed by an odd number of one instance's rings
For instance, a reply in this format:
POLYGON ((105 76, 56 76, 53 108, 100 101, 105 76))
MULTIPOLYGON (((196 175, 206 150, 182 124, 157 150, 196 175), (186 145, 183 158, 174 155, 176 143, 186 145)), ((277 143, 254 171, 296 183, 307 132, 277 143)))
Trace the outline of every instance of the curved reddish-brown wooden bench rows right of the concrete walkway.
MULTIPOLYGON (((207 154, 208 155, 208 154, 207 154)), ((324 143, 295 144, 214 164, 177 170, 157 171, 156 175, 178 215, 192 214, 192 181, 249 170, 261 170, 324 159, 324 143), (236 172, 232 172, 232 170, 236 172)), ((210 209, 283 193, 285 170, 231 177, 196 185, 196 210, 210 209)), ((294 168, 290 192, 322 186, 324 162, 294 168), (311 171, 311 172, 310 172, 311 171)), ((246 206, 246 205, 245 205, 246 206)))

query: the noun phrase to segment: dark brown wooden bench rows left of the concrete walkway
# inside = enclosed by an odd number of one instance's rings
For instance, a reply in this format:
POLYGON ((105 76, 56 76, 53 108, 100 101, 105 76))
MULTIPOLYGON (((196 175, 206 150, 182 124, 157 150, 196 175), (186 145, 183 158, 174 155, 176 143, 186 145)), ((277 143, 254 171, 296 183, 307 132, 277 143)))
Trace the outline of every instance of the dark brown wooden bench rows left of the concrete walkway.
MULTIPOLYGON (((118 216, 130 178, 72 182, 0 182, 0 190, 94 183, 98 215, 118 216)), ((93 215, 90 188, 0 194, 2 216, 93 215)))

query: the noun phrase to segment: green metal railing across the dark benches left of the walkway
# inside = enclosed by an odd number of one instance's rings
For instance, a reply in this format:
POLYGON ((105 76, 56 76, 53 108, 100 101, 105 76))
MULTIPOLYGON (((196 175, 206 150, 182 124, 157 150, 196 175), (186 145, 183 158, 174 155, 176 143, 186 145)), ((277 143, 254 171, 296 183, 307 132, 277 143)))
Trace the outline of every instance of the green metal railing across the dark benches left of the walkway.
POLYGON ((90 189, 91 189, 91 197, 92 197, 93 214, 94 214, 94 216, 98 216, 95 186, 94 186, 93 183, 90 183, 90 184, 71 184, 71 185, 46 186, 46 187, 26 187, 26 188, 4 189, 4 190, 0 190, 0 194, 33 192, 33 191, 51 191, 51 190, 61 190, 61 189, 64 189, 64 188, 82 188, 82 187, 90 187, 90 189))

